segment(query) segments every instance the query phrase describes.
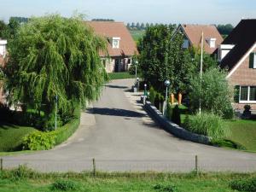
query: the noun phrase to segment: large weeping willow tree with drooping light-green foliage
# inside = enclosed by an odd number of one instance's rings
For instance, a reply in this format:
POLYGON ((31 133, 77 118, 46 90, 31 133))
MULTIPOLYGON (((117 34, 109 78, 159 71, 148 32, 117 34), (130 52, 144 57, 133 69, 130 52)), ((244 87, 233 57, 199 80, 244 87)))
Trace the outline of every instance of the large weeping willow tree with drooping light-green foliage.
POLYGON ((96 100, 107 80, 98 55, 106 47, 106 41, 79 16, 32 18, 9 44, 5 68, 9 103, 24 103, 50 119, 56 96, 64 113, 75 103, 83 107, 96 100))

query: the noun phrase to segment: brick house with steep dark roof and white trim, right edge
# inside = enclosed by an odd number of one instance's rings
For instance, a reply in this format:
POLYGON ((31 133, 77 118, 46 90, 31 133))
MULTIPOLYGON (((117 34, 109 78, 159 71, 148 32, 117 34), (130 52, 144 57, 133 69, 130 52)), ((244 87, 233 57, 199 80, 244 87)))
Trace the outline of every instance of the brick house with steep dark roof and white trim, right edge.
POLYGON ((256 110, 256 20, 241 20, 216 52, 236 89, 234 107, 249 104, 256 110))

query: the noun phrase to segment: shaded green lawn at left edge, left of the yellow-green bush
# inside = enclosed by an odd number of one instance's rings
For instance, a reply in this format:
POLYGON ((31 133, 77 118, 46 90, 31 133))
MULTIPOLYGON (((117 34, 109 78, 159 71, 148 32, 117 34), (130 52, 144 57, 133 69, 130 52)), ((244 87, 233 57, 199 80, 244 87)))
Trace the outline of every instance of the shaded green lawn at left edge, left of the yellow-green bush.
POLYGON ((36 131, 32 127, 1 124, 0 123, 0 152, 19 150, 22 137, 26 134, 36 131))

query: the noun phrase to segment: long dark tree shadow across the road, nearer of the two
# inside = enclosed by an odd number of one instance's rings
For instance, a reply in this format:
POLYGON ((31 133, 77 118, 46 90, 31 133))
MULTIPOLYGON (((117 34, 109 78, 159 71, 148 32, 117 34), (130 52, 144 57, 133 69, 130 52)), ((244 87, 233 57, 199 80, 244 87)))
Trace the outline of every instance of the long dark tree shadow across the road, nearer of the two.
POLYGON ((130 111, 121 108, 90 108, 89 113, 110 115, 110 116, 120 116, 120 117, 137 117, 142 118, 145 116, 143 113, 138 113, 135 111, 130 111))

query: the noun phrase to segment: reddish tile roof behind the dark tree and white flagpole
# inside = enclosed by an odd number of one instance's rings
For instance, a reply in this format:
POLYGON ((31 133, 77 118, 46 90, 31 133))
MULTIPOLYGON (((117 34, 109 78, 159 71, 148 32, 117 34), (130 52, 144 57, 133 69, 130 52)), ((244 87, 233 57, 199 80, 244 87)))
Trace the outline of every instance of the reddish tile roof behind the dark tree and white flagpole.
POLYGON ((201 47, 201 32, 204 32, 204 49, 208 54, 212 54, 223 42, 222 36, 219 34, 216 26, 206 25, 182 25, 183 32, 186 33, 190 43, 195 47, 201 47), (210 48, 207 38, 216 38, 215 48, 210 48))

